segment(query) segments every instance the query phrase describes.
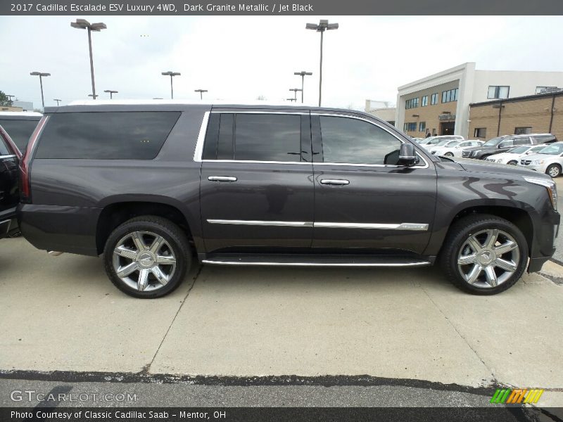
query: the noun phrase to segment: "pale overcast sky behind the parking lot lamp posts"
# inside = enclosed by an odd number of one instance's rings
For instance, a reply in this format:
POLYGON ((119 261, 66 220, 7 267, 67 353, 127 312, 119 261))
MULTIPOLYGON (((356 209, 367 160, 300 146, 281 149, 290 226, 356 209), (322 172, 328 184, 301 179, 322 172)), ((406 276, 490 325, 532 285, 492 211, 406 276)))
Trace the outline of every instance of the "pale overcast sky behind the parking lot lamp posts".
POLYGON ((279 103, 301 87, 293 72, 307 70, 305 102, 315 103, 319 83, 317 32, 305 23, 340 24, 324 36, 323 106, 362 109, 366 98, 396 102, 397 87, 461 63, 477 69, 563 71, 559 53, 563 17, 0 17, 0 90, 41 106, 87 99, 91 93, 87 32, 70 27, 85 18, 104 22, 93 33, 96 91, 116 98, 175 98, 279 103))

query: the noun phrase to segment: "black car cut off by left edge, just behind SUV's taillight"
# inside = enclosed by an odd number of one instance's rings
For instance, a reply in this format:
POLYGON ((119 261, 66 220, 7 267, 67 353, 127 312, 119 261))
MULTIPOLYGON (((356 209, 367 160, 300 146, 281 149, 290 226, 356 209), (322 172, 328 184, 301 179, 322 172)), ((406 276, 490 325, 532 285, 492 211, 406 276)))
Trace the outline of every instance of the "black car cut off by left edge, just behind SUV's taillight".
POLYGON ((20 151, 0 126, 0 238, 19 232, 15 211, 20 202, 18 162, 20 151))

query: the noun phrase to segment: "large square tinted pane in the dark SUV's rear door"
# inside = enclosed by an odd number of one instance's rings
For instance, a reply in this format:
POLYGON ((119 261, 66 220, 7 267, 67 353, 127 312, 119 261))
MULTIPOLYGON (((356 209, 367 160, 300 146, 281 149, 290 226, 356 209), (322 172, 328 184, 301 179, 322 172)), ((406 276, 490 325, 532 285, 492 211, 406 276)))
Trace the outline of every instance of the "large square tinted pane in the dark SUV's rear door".
POLYGON ((235 160, 301 161, 301 116, 241 113, 234 127, 235 160))

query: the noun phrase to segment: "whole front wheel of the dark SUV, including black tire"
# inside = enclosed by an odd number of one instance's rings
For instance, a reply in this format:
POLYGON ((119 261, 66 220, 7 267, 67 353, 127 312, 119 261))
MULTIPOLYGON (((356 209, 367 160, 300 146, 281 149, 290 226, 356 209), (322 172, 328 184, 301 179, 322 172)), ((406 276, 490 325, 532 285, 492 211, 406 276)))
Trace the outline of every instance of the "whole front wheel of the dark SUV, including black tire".
POLYGON ((488 214, 469 215, 455 222, 442 250, 441 265, 448 280, 474 295, 495 295, 507 290, 524 274, 528 262, 528 243, 520 229, 488 214), (491 247, 487 241, 493 238, 496 241, 491 247))

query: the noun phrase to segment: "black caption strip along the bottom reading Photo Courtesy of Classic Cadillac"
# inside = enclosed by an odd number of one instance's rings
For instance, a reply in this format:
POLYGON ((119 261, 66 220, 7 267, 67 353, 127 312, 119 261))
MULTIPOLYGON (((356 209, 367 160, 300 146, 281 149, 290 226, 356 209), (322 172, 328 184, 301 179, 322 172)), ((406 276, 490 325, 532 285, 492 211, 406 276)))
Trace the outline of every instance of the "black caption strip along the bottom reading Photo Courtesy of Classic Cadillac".
POLYGON ((530 407, 34 407, 1 408, 2 422, 146 421, 563 421, 562 408, 530 407))

